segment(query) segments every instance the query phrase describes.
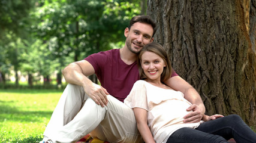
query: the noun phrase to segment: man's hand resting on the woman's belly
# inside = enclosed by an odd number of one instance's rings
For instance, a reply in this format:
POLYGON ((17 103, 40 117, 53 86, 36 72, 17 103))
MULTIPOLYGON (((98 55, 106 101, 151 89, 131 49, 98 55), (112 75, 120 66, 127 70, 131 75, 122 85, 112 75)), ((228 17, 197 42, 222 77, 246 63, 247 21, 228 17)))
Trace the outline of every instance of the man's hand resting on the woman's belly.
POLYGON ((197 123, 200 122, 204 115, 204 107, 201 107, 199 105, 191 105, 189 108, 186 109, 186 111, 192 111, 191 113, 184 116, 183 122, 184 123, 197 123))

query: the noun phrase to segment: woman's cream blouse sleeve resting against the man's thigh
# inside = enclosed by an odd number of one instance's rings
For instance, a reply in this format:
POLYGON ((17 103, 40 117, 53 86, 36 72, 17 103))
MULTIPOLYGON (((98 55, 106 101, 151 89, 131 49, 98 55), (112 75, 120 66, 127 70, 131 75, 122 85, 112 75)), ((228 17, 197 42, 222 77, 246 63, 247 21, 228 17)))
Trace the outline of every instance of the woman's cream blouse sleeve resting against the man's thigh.
POLYGON ((131 92, 129 93, 127 98, 125 98, 124 103, 127 104, 130 108, 138 107, 149 111, 149 106, 147 104, 146 87, 142 80, 138 80, 134 83, 131 92))

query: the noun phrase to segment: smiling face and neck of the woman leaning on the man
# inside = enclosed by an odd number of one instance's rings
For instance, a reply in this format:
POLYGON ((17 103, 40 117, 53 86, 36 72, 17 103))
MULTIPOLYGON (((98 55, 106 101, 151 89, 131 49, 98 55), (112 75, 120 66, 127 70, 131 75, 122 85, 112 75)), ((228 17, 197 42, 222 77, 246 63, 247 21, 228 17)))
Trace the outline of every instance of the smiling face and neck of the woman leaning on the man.
POLYGON ((164 60, 153 52, 146 51, 141 55, 141 67, 147 76, 147 82, 159 82, 166 66, 164 60))

